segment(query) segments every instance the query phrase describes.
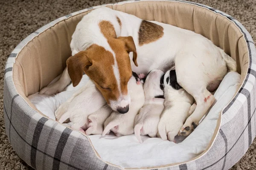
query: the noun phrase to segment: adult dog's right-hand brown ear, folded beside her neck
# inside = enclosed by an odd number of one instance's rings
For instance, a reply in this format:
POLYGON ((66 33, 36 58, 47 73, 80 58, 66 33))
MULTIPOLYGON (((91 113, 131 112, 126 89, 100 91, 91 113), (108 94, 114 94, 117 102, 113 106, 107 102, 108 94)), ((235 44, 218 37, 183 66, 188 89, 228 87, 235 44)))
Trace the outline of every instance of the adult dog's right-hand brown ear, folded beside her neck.
POLYGON ((122 40, 125 42, 125 49, 128 53, 133 52, 133 62, 134 64, 138 67, 137 63, 137 51, 136 51, 136 46, 134 44, 134 40, 131 36, 128 37, 118 37, 118 39, 122 40))

